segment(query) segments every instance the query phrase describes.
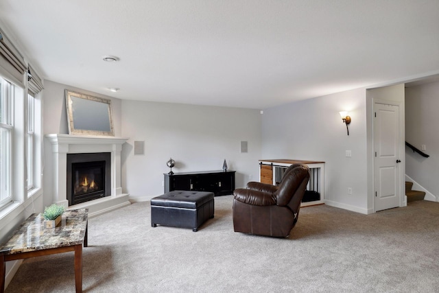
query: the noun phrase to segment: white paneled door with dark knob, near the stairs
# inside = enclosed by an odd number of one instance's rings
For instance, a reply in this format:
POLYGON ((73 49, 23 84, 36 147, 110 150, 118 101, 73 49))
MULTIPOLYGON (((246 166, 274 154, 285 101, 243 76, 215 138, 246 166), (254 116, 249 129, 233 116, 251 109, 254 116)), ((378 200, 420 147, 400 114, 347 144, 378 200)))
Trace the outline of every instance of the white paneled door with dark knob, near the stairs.
POLYGON ((375 211, 399 207, 399 106, 374 103, 375 211))

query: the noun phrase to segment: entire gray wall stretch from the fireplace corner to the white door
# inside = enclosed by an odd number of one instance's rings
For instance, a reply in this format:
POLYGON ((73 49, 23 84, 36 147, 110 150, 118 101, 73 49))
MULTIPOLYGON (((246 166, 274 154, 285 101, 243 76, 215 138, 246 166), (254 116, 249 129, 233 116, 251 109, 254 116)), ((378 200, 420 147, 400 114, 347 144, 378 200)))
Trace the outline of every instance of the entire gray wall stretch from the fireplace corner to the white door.
MULTIPOLYGON (((64 89, 86 91, 49 81, 45 88, 45 133, 67 133, 64 89)), ((221 169, 226 159, 229 169, 237 171, 237 187, 258 180, 259 159, 305 159, 326 162, 327 204, 370 213, 366 100, 366 89, 355 89, 268 108, 261 115, 243 108, 112 99, 115 133, 129 138, 122 150, 123 192, 134 200, 162 194, 170 157, 177 162, 174 172, 221 169), (349 136, 340 110, 352 117, 349 136), (144 142, 145 154, 134 155, 134 141, 144 142), (248 141, 248 153, 239 152, 240 141, 248 141), (351 150, 351 158, 346 150, 351 150)), ((45 182, 51 178, 50 147, 45 144, 45 182)), ((45 204, 49 203, 51 191, 45 189, 45 204)))

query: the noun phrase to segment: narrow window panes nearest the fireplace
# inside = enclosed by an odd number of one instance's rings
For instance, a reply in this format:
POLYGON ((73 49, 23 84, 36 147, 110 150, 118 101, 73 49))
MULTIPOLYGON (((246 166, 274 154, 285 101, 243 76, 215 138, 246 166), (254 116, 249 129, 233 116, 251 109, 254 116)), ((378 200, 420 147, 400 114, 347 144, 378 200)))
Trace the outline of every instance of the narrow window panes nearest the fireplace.
POLYGON ((26 143, 27 143, 27 156, 26 156, 26 163, 27 163, 27 191, 30 191, 34 188, 34 169, 35 169, 35 135, 34 135, 34 109, 35 109, 35 102, 34 102, 34 95, 33 93, 27 94, 27 136, 26 136, 26 143))

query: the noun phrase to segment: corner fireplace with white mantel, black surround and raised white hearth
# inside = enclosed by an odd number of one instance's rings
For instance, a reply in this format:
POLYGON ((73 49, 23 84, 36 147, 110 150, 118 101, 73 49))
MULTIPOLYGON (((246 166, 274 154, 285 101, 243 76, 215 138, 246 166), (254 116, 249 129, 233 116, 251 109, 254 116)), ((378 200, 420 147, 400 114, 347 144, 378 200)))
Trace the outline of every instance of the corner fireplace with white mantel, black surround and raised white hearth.
MULTIPOLYGON (((80 204, 74 204, 75 209, 88 209, 88 216, 101 215, 114 211, 121 207, 130 205, 129 194, 123 194, 121 187, 121 150, 122 145, 128 141, 126 137, 106 137, 80 134, 46 134, 45 139, 50 143, 51 156, 47 154, 47 163, 53 168, 53 176, 45 176, 45 196, 51 198, 52 202, 62 204, 64 207, 71 205, 71 190, 72 181, 69 177, 69 187, 67 188, 67 155, 71 154, 90 154, 88 161, 106 161, 105 165, 105 180, 106 180, 106 195, 104 198, 97 198, 96 200, 89 200, 80 204), (107 159, 97 159, 97 153, 109 153, 110 161, 107 159), (46 182, 47 180, 47 182, 46 182), (67 191, 69 190, 69 200, 67 199, 67 191)), ((108 157, 108 155, 107 155, 108 157)), ((83 161, 82 161, 83 162, 83 161)), ((78 163, 78 161, 73 162, 78 163)), ((69 166, 71 161, 69 161, 69 166)), ((71 169, 69 169, 69 176, 71 176, 71 169)))

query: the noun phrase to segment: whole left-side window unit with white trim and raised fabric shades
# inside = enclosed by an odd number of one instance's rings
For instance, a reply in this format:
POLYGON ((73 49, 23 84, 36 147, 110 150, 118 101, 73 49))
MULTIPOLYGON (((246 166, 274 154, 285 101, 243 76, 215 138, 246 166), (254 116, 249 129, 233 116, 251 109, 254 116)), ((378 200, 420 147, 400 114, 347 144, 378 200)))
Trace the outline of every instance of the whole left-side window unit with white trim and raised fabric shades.
POLYGON ((40 91, 43 80, 0 30, 0 217, 42 194, 40 91))

